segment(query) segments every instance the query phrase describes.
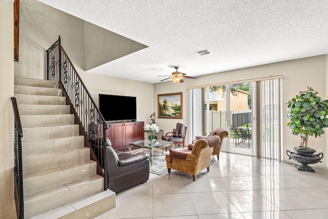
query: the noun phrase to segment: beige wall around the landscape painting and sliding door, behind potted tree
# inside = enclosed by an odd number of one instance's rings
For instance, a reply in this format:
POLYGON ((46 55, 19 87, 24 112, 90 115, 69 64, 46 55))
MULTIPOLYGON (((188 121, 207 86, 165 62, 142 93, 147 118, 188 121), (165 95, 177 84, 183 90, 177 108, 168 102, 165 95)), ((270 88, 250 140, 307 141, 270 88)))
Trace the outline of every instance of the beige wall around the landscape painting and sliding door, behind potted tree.
MULTIPOLYGON (((183 92, 183 118, 182 120, 173 120, 166 118, 157 118, 156 123, 165 132, 172 131, 177 122, 185 123, 188 126, 188 90, 189 86, 207 85, 213 83, 230 83, 243 79, 258 77, 270 77, 272 75, 282 75, 282 155, 284 162, 292 162, 285 155, 286 150, 293 150, 298 146, 299 136, 294 136, 286 125, 288 120, 285 118, 286 106, 289 98, 294 97, 299 91, 306 90, 308 86, 313 87, 319 92, 321 97, 327 97, 326 74, 327 74, 327 55, 301 58, 292 61, 256 66, 252 68, 238 69, 227 72, 220 72, 200 76, 198 80, 186 79, 185 83, 175 84, 171 81, 157 83, 154 87, 154 109, 157 109, 157 94, 183 92)), ((187 72, 188 73, 188 72, 187 72)), ((328 132, 326 129, 325 132, 328 132)), ((188 138, 187 138, 188 139, 188 138)), ((187 143, 188 144, 188 143, 187 143)), ((318 138, 311 138, 309 146, 318 149, 322 148, 323 153, 327 153, 326 133, 318 138)), ((313 165, 326 168, 327 160, 313 165)))

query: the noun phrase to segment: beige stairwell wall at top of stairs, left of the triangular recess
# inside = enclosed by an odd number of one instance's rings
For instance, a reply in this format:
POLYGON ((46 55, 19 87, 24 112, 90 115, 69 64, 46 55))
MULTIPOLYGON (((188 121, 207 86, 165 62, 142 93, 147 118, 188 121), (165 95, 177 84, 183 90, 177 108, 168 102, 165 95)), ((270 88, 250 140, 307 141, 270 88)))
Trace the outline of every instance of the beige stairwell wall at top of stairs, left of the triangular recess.
POLYGON ((72 63, 84 69, 84 21, 36 0, 20 1, 15 76, 45 79, 45 52, 58 35, 72 63))

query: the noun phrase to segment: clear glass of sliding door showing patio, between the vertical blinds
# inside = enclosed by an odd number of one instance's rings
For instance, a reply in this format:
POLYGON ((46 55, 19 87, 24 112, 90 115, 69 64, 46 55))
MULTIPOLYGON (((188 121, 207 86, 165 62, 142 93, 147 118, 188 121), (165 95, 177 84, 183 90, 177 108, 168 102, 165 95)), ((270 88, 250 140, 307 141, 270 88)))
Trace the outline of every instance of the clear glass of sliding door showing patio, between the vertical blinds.
POLYGON ((230 133, 222 151, 254 155, 252 87, 253 83, 240 83, 204 89, 204 133, 216 128, 230 133))

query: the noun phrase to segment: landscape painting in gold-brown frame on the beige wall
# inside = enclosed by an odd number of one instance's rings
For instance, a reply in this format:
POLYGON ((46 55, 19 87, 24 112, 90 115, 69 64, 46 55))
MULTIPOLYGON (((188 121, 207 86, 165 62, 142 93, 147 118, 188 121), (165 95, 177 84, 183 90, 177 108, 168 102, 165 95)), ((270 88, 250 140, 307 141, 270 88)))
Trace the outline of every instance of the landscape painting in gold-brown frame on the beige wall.
POLYGON ((182 92, 157 95, 158 118, 182 118, 182 92))

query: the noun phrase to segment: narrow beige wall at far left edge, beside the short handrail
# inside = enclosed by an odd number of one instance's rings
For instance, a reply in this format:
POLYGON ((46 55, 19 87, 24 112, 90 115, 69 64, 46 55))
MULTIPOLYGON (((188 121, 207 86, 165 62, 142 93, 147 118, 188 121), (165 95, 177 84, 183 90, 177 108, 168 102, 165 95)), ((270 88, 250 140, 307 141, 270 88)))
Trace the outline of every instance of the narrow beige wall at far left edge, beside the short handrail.
POLYGON ((0 218, 16 218, 14 203, 13 4, 0 1, 0 218))

